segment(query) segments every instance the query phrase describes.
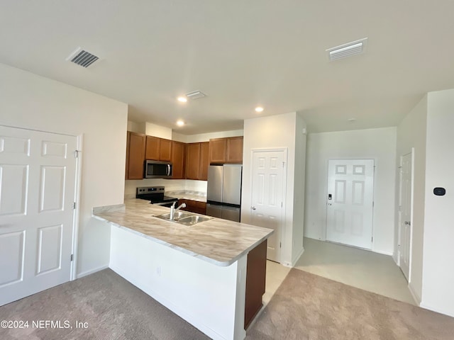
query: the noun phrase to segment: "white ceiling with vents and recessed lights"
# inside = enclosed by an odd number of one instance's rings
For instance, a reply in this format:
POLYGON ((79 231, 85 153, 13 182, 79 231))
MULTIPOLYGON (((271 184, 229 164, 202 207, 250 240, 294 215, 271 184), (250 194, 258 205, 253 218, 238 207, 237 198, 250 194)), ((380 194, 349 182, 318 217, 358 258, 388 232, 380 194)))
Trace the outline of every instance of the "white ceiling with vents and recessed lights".
POLYGON ((454 88, 453 13, 453 0, 8 0, 0 62, 187 135, 241 129, 258 104, 300 111, 310 132, 378 128, 454 88), (365 54, 328 62, 326 49, 365 37, 365 54), (66 62, 78 46, 102 60, 66 62), (195 90, 208 96, 175 100, 195 90))

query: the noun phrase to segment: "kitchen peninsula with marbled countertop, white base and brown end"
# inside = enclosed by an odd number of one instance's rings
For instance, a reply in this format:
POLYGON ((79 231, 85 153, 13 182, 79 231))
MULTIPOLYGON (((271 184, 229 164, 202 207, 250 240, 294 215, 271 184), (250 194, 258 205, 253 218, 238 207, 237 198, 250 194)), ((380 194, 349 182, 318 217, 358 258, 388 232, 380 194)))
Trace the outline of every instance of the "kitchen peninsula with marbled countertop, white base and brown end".
POLYGON ((111 224, 109 267, 212 339, 244 339, 245 324, 260 310, 273 230, 154 217, 166 212, 138 199, 94 208, 96 219, 111 224))

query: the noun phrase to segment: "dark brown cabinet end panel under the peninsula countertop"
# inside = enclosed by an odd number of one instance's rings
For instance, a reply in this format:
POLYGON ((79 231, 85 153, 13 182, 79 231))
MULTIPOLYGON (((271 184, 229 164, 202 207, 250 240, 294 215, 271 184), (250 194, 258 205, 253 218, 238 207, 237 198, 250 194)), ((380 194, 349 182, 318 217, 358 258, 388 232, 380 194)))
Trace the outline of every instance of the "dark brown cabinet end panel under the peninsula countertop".
POLYGON ((267 240, 249 251, 246 272, 244 328, 247 329, 262 307, 267 271, 267 240))

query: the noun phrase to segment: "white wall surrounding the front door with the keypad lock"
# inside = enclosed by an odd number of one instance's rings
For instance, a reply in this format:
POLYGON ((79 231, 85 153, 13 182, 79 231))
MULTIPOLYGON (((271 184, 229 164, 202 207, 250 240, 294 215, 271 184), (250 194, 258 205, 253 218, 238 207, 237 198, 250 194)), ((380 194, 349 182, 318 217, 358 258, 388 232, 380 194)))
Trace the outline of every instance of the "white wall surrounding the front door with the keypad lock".
POLYGON ((326 239, 328 159, 375 159, 372 251, 393 253, 396 130, 380 128, 309 134, 305 237, 326 239))

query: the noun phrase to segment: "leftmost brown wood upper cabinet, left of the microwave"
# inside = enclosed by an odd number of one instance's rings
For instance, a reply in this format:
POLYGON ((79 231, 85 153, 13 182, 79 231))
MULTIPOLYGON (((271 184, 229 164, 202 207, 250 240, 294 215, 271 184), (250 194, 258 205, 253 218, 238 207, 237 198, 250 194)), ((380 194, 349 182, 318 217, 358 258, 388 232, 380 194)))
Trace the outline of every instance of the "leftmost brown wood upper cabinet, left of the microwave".
POLYGON ((126 142, 126 179, 143 179, 145 135, 129 132, 126 142))

